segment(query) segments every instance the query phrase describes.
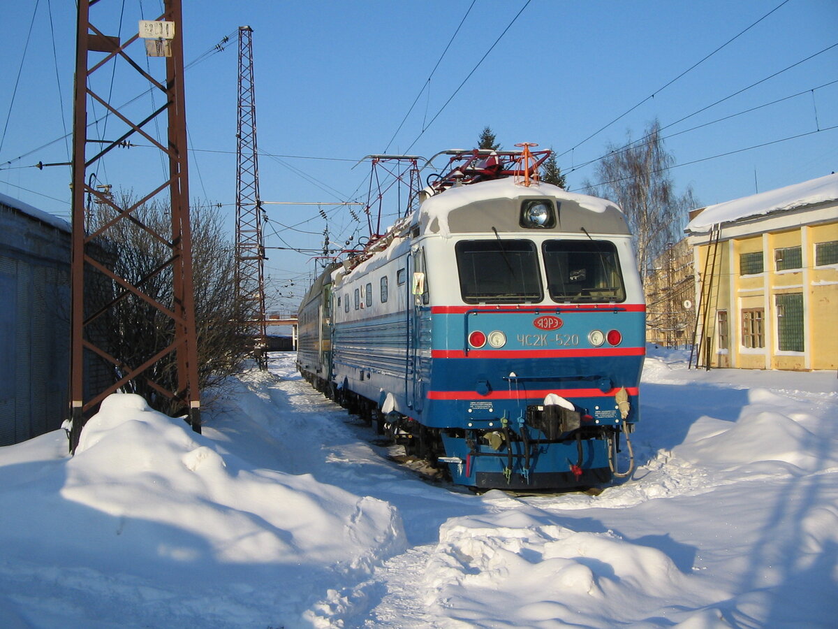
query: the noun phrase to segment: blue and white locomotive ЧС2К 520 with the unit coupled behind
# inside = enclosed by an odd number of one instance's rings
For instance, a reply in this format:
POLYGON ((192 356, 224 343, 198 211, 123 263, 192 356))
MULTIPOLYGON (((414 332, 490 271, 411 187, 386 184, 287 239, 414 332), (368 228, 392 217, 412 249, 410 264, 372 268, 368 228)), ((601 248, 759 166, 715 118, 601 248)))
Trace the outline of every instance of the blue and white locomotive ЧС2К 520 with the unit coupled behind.
POLYGON ((520 152, 486 153, 454 154, 416 211, 318 278, 297 366, 455 483, 625 476, 645 306, 623 213, 530 179, 520 152))

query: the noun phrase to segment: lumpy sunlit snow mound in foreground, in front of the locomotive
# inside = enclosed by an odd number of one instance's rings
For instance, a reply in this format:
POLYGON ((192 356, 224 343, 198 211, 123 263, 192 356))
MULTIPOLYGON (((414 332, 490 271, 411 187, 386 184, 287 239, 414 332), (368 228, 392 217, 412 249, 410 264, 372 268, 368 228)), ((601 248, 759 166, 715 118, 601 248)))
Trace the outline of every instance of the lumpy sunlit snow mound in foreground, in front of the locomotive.
POLYGON ((690 614, 679 608, 727 598, 656 548, 612 530, 577 532, 550 523, 556 519, 519 506, 496 517, 446 522, 428 564, 428 604, 469 626, 512 629, 609 627, 614 617, 621 624, 683 620, 690 614))

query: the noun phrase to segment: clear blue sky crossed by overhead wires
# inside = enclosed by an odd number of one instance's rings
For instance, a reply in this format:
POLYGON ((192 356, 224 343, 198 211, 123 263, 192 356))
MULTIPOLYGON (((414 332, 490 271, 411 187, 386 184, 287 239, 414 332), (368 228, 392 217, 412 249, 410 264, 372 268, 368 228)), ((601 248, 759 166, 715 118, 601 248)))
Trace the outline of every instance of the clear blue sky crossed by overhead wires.
MULTIPOLYGON (((245 24, 254 29, 263 200, 365 200, 370 169, 358 159, 472 148, 486 125, 503 148, 555 149, 574 190, 596 181, 592 160, 608 143, 623 143, 629 131, 639 137, 655 117, 675 156, 670 176, 703 205, 830 174, 838 162, 838 46, 830 48, 838 3, 781 3, 184 0, 185 60, 197 60, 186 75, 191 193, 222 204, 232 231, 236 38, 245 24), (225 36, 229 44, 215 50, 225 36)), ((32 165, 69 159, 69 139, 59 138, 72 128, 74 5, 0 8, 0 192, 65 217, 70 169, 32 165)), ((93 22, 116 34, 122 13, 127 37, 160 6, 101 0, 93 22)), ((160 60, 148 63, 159 75, 160 60)), ((113 87, 107 72, 98 89, 128 101, 142 91, 133 77, 120 66, 113 87)), ((148 112, 151 102, 131 107, 148 112)), ((91 134, 109 130, 102 123, 91 134)), ((97 177, 116 188, 144 192, 162 177, 149 148, 117 149, 105 161, 97 177)), ((335 240, 363 231, 345 209, 323 211, 335 240)), ((268 216, 269 247, 321 247, 317 205, 269 206, 268 216)), ((269 294, 299 294, 311 255, 269 255, 269 294)))

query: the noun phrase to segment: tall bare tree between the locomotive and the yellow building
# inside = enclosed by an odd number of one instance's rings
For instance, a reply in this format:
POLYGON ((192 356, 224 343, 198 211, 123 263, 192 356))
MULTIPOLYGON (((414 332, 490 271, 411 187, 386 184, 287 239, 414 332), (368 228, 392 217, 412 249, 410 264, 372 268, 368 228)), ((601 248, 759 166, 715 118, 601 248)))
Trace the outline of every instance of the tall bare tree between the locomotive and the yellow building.
POLYGON ((582 187, 590 194, 616 201, 625 212, 634 234, 637 267, 641 277, 649 273, 649 263, 666 246, 680 241, 688 211, 698 206, 691 186, 683 195, 667 173, 675 163, 660 137, 660 122, 654 120, 643 138, 632 141, 631 134, 622 147, 609 143, 608 156, 597 166, 599 184, 585 180, 582 187))

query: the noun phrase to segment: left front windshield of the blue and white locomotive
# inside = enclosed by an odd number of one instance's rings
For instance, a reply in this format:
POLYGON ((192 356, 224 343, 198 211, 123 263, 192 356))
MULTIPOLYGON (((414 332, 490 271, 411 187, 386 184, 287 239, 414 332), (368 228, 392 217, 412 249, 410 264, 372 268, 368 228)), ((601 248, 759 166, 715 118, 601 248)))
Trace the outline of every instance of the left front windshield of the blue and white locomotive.
POLYGON ((529 240, 460 241, 454 247, 466 304, 539 302, 538 252, 529 240))

